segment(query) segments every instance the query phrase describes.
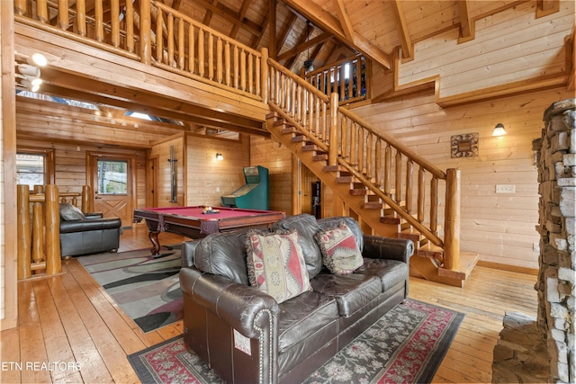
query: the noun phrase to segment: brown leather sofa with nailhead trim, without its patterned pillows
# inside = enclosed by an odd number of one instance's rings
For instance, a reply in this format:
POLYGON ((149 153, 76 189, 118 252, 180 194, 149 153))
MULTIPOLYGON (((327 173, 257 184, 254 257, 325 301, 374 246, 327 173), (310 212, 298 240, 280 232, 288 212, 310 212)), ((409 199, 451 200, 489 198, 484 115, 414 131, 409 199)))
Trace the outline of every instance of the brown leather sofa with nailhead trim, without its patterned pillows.
POLYGON ((278 304, 248 283, 246 231, 184 242, 180 271, 184 342, 230 383, 296 383, 408 296, 410 240, 364 235, 351 218, 298 215, 295 228, 312 290, 278 304), (346 222, 364 265, 336 275, 322 265, 314 235, 346 222))

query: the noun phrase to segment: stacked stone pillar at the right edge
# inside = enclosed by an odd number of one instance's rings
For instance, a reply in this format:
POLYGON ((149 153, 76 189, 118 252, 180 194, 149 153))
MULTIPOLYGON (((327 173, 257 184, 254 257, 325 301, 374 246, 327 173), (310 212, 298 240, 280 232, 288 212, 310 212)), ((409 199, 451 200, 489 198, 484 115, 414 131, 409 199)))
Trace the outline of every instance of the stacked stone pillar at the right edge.
POLYGON ((537 326, 550 356, 549 382, 576 381, 576 99, 552 104, 542 138, 533 141, 538 165, 540 269, 537 326))

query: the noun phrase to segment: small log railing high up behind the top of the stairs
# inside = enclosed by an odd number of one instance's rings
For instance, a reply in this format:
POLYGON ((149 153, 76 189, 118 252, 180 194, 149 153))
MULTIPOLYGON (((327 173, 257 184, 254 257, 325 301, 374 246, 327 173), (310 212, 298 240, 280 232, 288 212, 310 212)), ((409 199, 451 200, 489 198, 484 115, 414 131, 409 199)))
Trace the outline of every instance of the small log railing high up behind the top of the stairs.
POLYGON ((366 99, 366 64, 364 56, 356 55, 311 72, 302 68, 301 76, 322 94, 338 94, 340 105, 354 103, 366 99))

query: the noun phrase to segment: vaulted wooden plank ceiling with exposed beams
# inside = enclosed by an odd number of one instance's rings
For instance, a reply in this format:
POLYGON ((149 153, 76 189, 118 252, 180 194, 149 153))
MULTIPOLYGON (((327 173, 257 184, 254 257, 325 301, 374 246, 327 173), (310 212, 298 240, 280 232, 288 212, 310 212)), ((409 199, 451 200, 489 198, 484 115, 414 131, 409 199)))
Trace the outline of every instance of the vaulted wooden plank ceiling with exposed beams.
MULTIPOLYGON (((356 53, 365 54, 376 66, 390 68, 396 51, 401 52, 403 59, 410 59, 414 43, 452 28, 459 29, 461 41, 472 40, 475 20, 526 0, 163 1, 253 49, 268 48, 272 58, 300 73, 307 60, 320 68, 356 53)), ((94 3, 93 9, 91 2, 86 3, 86 11, 94 13, 94 3)), ((540 0, 537 4, 541 13, 554 12, 558 0, 540 0)), ((52 87, 50 91, 82 98, 77 90, 67 90, 66 86, 59 90, 52 87)), ((94 96, 88 100, 98 103, 94 96)), ((115 107, 127 109, 130 105, 115 107)), ((196 119, 192 123, 198 127, 211 126, 202 124, 202 116, 196 119)))

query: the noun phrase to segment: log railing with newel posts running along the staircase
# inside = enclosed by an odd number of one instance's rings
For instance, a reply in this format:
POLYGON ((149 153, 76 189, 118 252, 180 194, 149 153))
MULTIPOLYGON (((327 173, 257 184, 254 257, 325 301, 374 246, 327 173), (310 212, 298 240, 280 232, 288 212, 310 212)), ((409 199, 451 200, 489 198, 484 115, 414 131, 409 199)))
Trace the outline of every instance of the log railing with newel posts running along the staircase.
POLYGON ((396 139, 377 132, 354 112, 338 106, 337 93, 329 98, 274 59, 268 58, 268 64, 270 108, 297 126, 321 151, 327 152, 329 165, 346 168, 420 234, 442 247, 443 267, 457 270, 460 255, 460 171, 441 171, 396 139), (412 181, 415 165, 418 165, 416 186, 412 181), (427 193, 428 175, 430 186, 427 193), (438 228, 440 181, 446 184, 444 239, 439 237, 438 228), (416 212, 412 211, 414 195, 416 212))

